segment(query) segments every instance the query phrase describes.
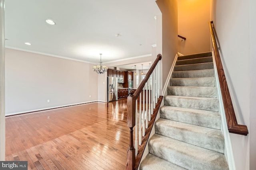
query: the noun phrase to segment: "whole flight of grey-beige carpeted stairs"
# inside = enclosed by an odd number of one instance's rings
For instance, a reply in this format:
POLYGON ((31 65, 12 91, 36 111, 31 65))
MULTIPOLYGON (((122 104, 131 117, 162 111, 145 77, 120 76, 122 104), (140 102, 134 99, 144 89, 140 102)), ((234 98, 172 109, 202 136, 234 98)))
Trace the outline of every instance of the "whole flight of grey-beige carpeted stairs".
POLYGON ((140 170, 228 170, 212 53, 178 57, 140 170))

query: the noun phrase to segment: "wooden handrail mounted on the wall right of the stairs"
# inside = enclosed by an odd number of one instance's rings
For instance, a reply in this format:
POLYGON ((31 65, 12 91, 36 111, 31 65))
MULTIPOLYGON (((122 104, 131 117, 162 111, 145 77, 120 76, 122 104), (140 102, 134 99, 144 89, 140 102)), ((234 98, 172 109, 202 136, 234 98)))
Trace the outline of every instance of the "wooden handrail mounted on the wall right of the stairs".
POLYGON ((234 107, 232 105, 230 93, 228 90, 228 84, 226 81, 226 77, 225 77, 223 66, 222 66, 221 59, 220 59, 220 53, 218 51, 218 46, 217 46, 216 38, 214 35, 213 21, 209 22, 209 27, 210 27, 212 45, 213 45, 214 54, 215 54, 218 78, 219 78, 219 82, 220 82, 220 90, 221 90, 222 100, 223 100, 223 105, 224 105, 224 111, 225 111, 226 121, 227 121, 227 125, 228 125, 228 131, 230 133, 236 133, 239 135, 247 136, 247 134, 248 134, 247 126, 246 125, 238 125, 238 123, 236 121, 234 107))

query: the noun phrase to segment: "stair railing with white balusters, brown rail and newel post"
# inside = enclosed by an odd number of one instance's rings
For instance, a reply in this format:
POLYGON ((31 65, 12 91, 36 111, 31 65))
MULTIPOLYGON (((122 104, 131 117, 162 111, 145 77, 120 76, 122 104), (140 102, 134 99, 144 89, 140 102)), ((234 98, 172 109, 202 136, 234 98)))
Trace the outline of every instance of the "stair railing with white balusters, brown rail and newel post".
POLYGON ((161 59, 162 55, 158 54, 137 90, 135 92, 134 90, 129 91, 130 94, 127 98, 127 124, 130 128, 130 139, 127 150, 126 170, 138 169, 156 114, 162 102, 163 97, 160 96, 159 83, 159 61, 161 59), (133 140, 134 126, 135 140, 133 140))

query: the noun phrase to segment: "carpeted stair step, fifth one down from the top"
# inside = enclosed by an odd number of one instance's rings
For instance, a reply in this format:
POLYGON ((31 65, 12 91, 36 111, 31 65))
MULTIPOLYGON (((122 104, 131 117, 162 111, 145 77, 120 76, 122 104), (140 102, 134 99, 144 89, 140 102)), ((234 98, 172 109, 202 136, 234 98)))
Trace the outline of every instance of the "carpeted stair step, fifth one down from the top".
POLYGON ((215 87, 215 78, 170 78, 170 86, 215 87))

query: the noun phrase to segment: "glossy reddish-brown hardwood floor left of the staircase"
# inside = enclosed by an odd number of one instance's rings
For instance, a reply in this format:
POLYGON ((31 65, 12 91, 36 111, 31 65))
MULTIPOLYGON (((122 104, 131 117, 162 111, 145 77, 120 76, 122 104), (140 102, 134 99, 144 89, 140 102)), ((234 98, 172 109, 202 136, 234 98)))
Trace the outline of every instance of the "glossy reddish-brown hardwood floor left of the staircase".
POLYGON ((127 100, 6 117, 6 160, 33 170, 126 169, 127 100))

